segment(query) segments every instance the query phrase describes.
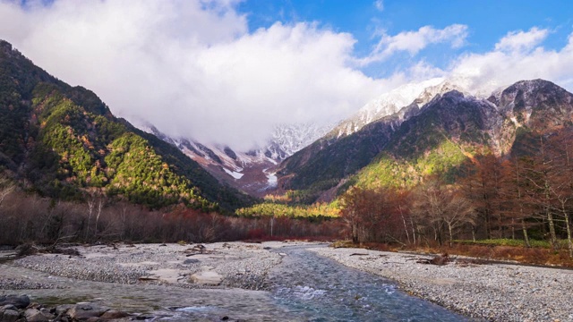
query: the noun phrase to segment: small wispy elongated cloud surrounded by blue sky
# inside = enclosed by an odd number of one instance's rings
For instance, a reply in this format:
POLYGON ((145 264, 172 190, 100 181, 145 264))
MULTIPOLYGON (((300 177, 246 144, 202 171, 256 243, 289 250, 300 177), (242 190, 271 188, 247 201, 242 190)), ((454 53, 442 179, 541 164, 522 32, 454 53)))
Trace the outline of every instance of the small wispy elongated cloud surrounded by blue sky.
POLYGON ((462 47, 467 37, 467 26, 452 24, 438 30, 432 26, 423 26, 416 31, 402 31, 395 36, 385 32, 381 35, 380 42, 376 45, 371 55, 358 61, 361 65, 372 64, 387 59, 397 52, 408 52, 416 55, 420 50, 431 44, 450 43, 451 47, 462 47))

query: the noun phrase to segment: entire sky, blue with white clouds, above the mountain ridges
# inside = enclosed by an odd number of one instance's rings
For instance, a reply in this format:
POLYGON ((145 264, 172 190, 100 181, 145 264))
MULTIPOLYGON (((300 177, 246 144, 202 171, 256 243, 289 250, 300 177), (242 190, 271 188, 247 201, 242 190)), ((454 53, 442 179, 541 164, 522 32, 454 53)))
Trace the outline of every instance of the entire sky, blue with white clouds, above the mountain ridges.
POLYGON ((566 0, 0 0, 0 38, 116 115, 238 150, 437 77, 573 91, 566 0))

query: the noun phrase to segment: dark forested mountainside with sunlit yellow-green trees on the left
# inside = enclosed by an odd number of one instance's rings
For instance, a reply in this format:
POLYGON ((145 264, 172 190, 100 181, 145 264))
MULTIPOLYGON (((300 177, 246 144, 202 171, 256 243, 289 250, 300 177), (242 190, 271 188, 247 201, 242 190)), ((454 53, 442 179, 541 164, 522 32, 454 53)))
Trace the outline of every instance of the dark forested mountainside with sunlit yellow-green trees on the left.
POLYGON ((204 211, 252 202, 163 140, 140 131, 90 90, 71 87, 0 41, 0 170, 56 199, 105 193, 149 208, 204 211))

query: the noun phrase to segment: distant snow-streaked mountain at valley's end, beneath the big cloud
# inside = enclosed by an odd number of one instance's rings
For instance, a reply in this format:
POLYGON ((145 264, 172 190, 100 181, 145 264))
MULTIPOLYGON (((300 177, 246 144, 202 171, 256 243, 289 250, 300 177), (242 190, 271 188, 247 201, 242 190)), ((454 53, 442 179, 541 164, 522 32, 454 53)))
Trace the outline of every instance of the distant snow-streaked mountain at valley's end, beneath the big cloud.
POLYGON ((148 122, 140 122, 137 126, 179 148, 219 182, 257 197, 263 197, 276 188, 276 167, 282 160, 321 138, 333 127, 314 123, 282 124, 275 128, 262 148, 235 151, 225 145, 172 138, 148 122))

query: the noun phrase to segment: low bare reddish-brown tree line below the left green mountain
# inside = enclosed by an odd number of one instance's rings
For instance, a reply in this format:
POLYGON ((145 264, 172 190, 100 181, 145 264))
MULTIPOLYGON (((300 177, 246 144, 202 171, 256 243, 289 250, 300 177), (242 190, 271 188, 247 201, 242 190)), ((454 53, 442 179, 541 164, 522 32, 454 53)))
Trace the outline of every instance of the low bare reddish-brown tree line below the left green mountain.
POLYGON ((29 195, 0 177, 0 245, 335 239, 342 230, 334 221, 223 216, 184 204, 154 210, 97 193, 84 200, 29 195))

